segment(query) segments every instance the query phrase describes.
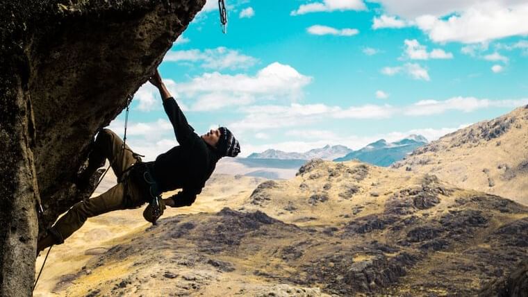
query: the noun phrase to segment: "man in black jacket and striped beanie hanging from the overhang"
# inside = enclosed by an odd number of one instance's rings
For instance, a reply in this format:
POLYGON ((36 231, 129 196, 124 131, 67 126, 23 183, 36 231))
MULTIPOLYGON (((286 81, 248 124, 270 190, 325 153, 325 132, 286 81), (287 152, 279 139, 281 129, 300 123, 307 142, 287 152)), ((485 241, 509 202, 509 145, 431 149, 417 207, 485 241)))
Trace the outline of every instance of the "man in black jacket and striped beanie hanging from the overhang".
POLYGON ((183 207, 194 203, 213 173, 216 162, 222 157, 236 157, 240 153, 240 144, 225 127, 197 135, 157 70, 149 82, 160 92, 163 108, 174 128, 179 146, 158 155, 155 161, 141 162, 129 146, 123 148, 122 139, 113 131, 101 130, 88 155, 88 166, 77 178, 76 185, 79 188, 88 187, 90 178, 104 164, 105 158, 108 158, 117 176, 117 185, 69 209, 38 241, 38 253, 53 244, 62 244, 89 217, 113 210, 133 209, 149 203, 143 216, 147 221, 156 223, 165 205, 183 207), (181 191, 169 198, 160 198, 161 193, 174 189, 181 191))

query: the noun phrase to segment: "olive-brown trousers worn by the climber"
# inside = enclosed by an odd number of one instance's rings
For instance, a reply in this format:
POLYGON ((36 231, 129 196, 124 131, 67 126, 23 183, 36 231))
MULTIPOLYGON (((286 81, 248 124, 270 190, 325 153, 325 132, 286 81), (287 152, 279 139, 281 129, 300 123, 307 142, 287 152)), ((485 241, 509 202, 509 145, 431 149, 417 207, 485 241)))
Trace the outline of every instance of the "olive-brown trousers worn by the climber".
MULTIPOLYGON (((111 130, 104 129, 99 132, 94 144, 94 158, 92 158, 92 153, 90 153, 88 162, 100 164, 101 160, 92 159, 108 158, 110 164, 112 164, 115 176, 117 176, 117 185, 100 196, 81 201, 72 206, 50 229, 49 233, 54 239, 53 244, 62 244, 64 239, 81 228, 89 217, 113 210, 137 208, 145 203, 144 198, 140 195, 140 189, 138 189, 137 185, 130 182, 128 172, 123 173, 138 159, 133 156, 133 152, 128 146, 125 146, 124 149, 122 149, 122 146, 122 139, 111 130)), ((46 247, 40 246, 41 249, 46 247)))

